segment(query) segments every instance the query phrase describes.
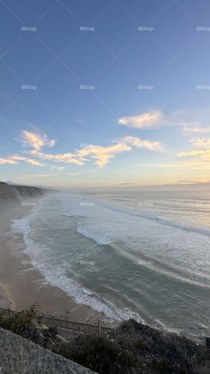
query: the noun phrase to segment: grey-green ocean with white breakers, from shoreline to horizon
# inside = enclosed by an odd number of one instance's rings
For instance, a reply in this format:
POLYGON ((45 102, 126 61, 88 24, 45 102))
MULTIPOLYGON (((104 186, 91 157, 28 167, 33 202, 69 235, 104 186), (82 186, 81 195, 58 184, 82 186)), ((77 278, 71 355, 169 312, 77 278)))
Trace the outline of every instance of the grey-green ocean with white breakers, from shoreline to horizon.
POLYGON ((209 191, 58 193, 12 230, 76 303, 180 332, 210 326, 209 217, 209 191))

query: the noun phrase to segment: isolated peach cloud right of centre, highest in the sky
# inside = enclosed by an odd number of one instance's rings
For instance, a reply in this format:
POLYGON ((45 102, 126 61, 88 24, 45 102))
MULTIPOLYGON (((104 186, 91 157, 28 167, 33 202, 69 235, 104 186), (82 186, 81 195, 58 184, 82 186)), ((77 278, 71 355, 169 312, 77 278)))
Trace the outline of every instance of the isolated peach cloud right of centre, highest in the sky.
POLYGON ((160 110, 139 114, 138 116, 122 117, 118 121, 120 125, 139 129, 158 129, 163 125, 163 122, 165 122, 165 119, 160 110))

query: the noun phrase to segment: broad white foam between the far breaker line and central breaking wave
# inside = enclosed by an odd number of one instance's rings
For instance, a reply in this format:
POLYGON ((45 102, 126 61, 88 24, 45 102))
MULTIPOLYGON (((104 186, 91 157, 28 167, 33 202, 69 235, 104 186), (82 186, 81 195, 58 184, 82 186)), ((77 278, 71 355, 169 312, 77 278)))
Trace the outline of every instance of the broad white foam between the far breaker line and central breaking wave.
POLYGON ((173 234, 171 232, 173 227, 177 230, 177 234, 179 230, 185 230, 210 236, 209 230, 163 220, 154 212, 102 203, 90 196, 61 194, 58 199, 64 208, 63 215, 77 216, 77 232, 100 245, 124 240, 126 236, 137 237, 139 232, 143 233, 143 230, 151 228, 161 230, 166 235, 166 227, 169 227, 167 232, 170 232, 170 236, 173 234), (148 220, 153 223, 149 223, 148 220))

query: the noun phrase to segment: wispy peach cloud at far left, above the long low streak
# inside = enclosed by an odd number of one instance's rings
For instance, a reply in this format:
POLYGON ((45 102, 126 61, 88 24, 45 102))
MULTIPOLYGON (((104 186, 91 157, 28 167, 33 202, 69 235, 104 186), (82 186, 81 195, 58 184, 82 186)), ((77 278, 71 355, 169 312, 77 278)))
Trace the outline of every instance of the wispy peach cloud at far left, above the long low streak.
POLYGON ((21 143, 27 143, 33 145, 33 147, 37 150, 40 150, 41 147, 44 147, 47 145, 48 147, 53 147, 55 145, 55 140, 49 140, 47 138, 47 135, 45 134, 35 134, 35 132, 28 132, 25 130, 22 130, 21 139, 15 139, 21 143))

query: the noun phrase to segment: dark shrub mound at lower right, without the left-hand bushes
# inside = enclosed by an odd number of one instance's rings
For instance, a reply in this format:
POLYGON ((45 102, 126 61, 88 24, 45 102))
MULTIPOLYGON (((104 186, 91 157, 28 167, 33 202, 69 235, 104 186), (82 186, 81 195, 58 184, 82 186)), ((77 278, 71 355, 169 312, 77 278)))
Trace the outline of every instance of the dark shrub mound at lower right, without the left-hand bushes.
POLYGON ((210 350, 132 319, 108 335, 78 335, 59 352, 100 374, 209 374, 210 350))

